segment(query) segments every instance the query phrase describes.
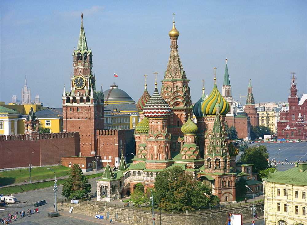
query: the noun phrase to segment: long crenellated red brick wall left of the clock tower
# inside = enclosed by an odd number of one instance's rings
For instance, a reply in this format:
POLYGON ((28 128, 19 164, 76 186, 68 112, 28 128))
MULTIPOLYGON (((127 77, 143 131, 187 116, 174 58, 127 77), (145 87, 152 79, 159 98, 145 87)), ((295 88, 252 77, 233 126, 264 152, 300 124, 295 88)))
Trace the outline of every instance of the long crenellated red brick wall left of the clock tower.
POLYGON ((61 157, 80 152, 78 132, 40 134, 38 140, 29 135, 0 136, 0 169, 61 164, 61 157), (32 154, 32 152, 34 152, 32 154))

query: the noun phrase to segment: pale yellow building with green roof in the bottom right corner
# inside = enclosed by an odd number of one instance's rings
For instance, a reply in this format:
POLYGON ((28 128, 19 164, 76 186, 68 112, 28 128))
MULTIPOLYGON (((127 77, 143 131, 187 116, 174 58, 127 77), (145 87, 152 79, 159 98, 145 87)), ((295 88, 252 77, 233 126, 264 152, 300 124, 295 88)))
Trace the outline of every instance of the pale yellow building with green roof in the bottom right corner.
POLYGON ((307 225, 307 163, 263 179, 266 225, 307 225))

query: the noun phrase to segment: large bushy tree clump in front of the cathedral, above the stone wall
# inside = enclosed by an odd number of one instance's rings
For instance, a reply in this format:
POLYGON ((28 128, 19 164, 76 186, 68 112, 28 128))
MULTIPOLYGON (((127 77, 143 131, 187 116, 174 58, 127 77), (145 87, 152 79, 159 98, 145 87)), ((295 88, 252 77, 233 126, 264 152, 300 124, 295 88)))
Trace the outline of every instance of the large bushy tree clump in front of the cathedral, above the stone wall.
POLYGON ((220 202, 210 187, 195 180, 179 166, 160 172, 154 186, 155 202, 168 211, 195 210, 220 202))

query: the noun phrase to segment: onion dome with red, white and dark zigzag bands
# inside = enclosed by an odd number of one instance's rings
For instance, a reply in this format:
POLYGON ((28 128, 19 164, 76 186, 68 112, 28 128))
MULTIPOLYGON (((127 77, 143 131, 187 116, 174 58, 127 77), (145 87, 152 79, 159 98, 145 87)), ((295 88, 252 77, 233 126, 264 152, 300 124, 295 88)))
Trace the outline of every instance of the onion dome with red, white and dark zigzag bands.
POLYGON ((147 117, 166 117, 171 114, 172 110, 169 104, 161 97, 157 87, 154 89, 153 95, 147 101, 143 108, 144 116, 147 117))

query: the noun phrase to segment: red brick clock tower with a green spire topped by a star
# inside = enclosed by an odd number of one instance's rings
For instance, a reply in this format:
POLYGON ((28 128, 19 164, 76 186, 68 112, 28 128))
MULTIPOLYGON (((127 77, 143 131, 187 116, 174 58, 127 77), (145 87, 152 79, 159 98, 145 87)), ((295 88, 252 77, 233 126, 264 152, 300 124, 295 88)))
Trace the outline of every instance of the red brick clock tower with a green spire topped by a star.
POLYGON ((80 133, 82 156, 96 155, 97 142, 94 130, 104 129, 104 97, 96 92, 92 72, 92 52, 87 48, 81 14, 81 30, 78 47, 73 53, 74 73, 70 92, 63 93, 63 130, 80 133))

